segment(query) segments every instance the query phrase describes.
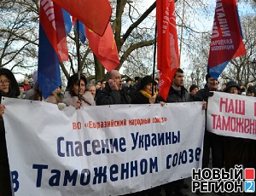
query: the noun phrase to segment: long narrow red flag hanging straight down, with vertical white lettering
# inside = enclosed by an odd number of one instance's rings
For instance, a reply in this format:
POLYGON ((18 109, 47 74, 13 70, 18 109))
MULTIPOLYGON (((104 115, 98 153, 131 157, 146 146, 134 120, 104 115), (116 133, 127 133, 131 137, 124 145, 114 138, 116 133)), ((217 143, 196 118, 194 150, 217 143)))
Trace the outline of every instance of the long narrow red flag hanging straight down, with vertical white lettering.
POLYGON ((157 68, 160 72, 159 95, 166 100, 177 68, 179 54, 174 0, 156 1, 157 68))

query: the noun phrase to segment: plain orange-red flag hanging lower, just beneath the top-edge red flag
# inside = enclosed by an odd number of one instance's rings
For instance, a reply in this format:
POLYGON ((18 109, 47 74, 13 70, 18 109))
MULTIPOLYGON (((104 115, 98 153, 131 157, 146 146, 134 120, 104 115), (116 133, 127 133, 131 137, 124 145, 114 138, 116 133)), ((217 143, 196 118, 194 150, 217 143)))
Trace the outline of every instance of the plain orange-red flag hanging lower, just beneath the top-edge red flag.
POLYGON ((110 24, 108 24, 102 37, 87 27, 85 27, 85 35, 89 41, 91 51, 108 72, 119 66, 119 54, 110 24))

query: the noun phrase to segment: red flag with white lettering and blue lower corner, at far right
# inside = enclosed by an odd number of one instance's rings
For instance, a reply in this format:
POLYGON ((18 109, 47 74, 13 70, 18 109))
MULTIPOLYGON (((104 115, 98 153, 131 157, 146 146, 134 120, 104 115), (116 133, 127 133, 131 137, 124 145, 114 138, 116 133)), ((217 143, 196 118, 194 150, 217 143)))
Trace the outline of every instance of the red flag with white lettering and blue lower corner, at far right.
POLYGON ((230 60, 246 53, 236 0, 218 0, 212 27, 208 73, 217 79, 230 60))

